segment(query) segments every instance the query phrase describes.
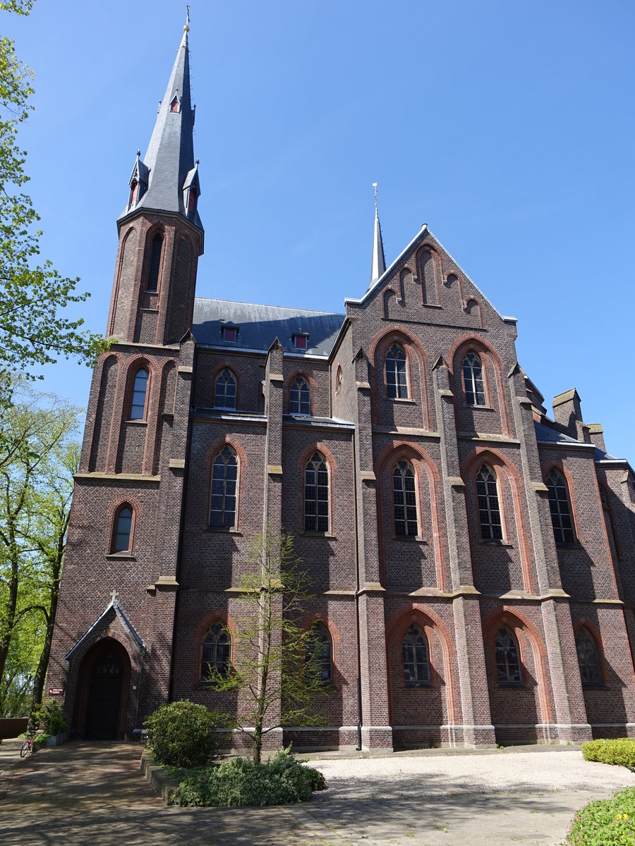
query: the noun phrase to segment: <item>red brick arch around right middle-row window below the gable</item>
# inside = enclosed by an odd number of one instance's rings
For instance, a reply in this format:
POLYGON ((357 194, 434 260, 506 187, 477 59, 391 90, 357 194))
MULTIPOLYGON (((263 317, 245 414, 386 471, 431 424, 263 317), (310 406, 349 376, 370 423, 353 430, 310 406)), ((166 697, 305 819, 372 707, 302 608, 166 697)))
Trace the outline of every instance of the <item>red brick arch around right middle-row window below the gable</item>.
MULTIPOLYGON (((499 449, 493 447, 475 447, 472 452, 468 453, 466 458, 461 463, 461 478, 467 484, 472 485, 474 496, 476 497, 476 475, 483 464, 489 464, 494 471, 504 472, 511 486, 511 501, 514 505, 514 520, 516 523, 516 535, 518 537, 518 552, 521 556, 522 566, 522 580, 526 591, 533 591, 532 569, 531 569, 531 555, 529 538, 527 537, 527 529, 525 526, 525 518, 522 514, 522 487, 523 481, 518 469, 507 458, 505 453, 500 452, 499 449)), ((467 500, 466 500, 467 506, 467 500)), ((503 524, 504 539, 509 535, 507 525, 509 515, 505 511, 505 497, 499 497, 499 507, 501 514, 501 522, 503 524)), ((476 515, 468 514, 468 525, 474 527, 477 531, 473 519, 476 515)), ((479 532, 480 536, 480 532, 479 532)))

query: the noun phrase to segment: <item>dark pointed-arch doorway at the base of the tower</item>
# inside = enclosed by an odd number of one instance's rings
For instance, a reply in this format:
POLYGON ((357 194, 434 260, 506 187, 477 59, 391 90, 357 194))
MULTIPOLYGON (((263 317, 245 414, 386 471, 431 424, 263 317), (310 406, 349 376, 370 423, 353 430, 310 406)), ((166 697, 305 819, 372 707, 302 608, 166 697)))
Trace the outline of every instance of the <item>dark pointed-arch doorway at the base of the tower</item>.
POLYGON ((80 689, 80 733, 86 740, 116 740, 125 726, 130 682, 130 658, 111 638, 100 641, 86 655, 80 689))

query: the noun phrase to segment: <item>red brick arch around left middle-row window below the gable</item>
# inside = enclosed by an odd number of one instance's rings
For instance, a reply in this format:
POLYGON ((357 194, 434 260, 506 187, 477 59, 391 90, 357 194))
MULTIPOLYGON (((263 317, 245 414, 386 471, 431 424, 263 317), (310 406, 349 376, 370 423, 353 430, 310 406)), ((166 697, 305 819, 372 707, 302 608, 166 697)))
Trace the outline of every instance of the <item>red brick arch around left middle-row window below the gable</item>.
MULTIPOLYGON (((411 443, 406 441, 393 441, 386 446, 381 453, 379 453, 378 458, 375 461, 375 477, 377 479, 377 488, 376 488, 376 496, 377 496, 377 519, 378 519, 378 543, 379 543, 379 579, 381 580, 381 584, 385 587, 386 586, 386 554, 385 554, 385 538, 386 532, 384 530, 385 526, 385 519, 384 519, 384 473, 387 468, 389 470, 393 470, 395 464, 400 461, 401 459, 407 459, 409 461, 414 461, 415 463, 422 464, 423 467, 428 472, 428 484, 430 487, 430 513, 431 513, 431 525, 432 525, 432 535, 433 535, 433 549, 434 549, 434 562, 435 562, 435 569, 437 573, 437 586, 444 590, 445 588, 445 567, 444 567, 444 554, 443 554, 443 544, 441 543, 441 532, 439 527, 439 514, 440 514, 440 507, 441 507, 441 497, 439 495, 439 485, 440 485, 440 476, 439 470, 437 470, 436 464, 434 464, 433 459, 428 455, 425 449, 421 447, 416 447, 411 443)), ((412 465, 412 469, 415 471, 417 476, 417 519, 419 523, 419 527, 421 526, 422 516, 421 516, 421 496, 420 496, 420 489, 422 483, 422 476, 421 470, 417 467, 417 464, 412 465)), ((389 478, 392 478, 392 472, 389 473, 389 478)))

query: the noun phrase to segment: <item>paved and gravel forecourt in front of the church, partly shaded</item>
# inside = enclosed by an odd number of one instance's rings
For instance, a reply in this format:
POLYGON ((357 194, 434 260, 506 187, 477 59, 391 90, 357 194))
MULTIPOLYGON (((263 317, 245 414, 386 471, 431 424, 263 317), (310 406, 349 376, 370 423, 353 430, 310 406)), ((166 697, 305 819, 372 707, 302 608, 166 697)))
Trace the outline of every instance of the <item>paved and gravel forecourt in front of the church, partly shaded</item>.
POLYGON ((578 750, 392 755, 312 761, 331 787, 304 805, 168 808, 139 772, 138 744, 71 743, 24 761, 19 745, 0 745, 3 846, 546 846, 588 799, 635 784, 578 750), (583 772, 574 788, 572 772, 583 772))

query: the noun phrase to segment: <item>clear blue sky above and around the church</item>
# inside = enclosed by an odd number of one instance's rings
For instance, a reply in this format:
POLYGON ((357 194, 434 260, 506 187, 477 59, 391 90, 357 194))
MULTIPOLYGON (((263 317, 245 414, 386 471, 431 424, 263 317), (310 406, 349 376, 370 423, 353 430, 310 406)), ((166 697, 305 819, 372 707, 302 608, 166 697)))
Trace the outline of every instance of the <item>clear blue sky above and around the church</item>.
MULTIPOLYGON (((175 0, 0 13, 36 72, 21 132, 42 253, 103 332, 135 151, 185 20, 175 0)), ((194 0, 206 252, 197 293, 343 310, 427 222, 507 315, 544 393, 577 387, 607 448, 632 426, 635 4, 194 0)), ((86 404, 90 371, 45 387, 86 404)))

